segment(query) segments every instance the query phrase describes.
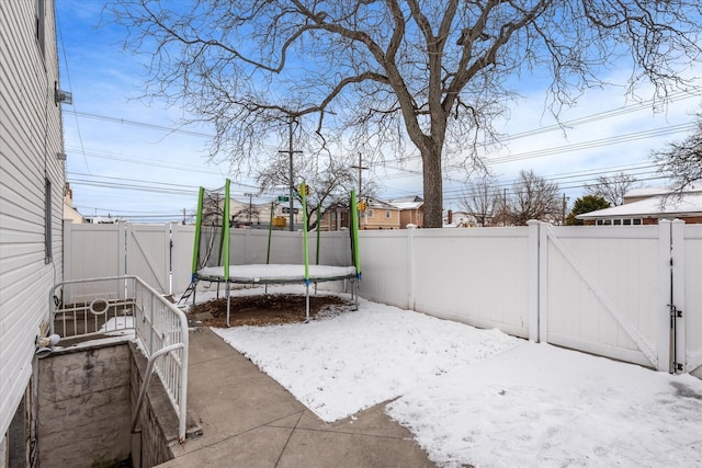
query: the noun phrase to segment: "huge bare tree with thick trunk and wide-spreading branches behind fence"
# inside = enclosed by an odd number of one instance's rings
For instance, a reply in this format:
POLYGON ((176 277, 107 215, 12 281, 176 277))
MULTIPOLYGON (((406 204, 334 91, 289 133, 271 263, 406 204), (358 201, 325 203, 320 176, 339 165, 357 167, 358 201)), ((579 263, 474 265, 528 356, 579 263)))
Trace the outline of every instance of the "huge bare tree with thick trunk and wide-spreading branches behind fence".
POLYGON ((684 82, 701 53, 699 0, 112 0, 125 46, 150 54, 146 96, 180 102, 216 130, 212 151, 254 164, 280 122, 307 119, 364 145, 421 155, 424 226, 441 227, 442 168, 479 165, 523 75, 551 77, 558 115, 631 69, 630 95, 684 82), (313 65, 314 64, 314 65, 313 65), (457 162, 457 161, 456 161, 457 162))

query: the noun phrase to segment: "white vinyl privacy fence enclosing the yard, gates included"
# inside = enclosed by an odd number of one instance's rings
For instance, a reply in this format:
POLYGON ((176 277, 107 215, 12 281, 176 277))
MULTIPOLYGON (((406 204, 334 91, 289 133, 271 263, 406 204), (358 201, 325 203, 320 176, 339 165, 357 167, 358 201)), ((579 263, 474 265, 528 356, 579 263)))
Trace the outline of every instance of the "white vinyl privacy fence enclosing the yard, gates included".
MULTIPOLYGON (((349 232, 321 235, 320 263, 351 264, 349 232)), ((138 275, 162 294, 190 284, 192 226, 67 224, 65 240, 67 279, 138 275)), ((268 241, 233 229, 230 262, 265 263, 268 241)), ((301 232, 273 232, 270 263, 302 255, 301 232)), ((701 225, 361 231, 360 256, 369 300, 702 376, 701 225)))

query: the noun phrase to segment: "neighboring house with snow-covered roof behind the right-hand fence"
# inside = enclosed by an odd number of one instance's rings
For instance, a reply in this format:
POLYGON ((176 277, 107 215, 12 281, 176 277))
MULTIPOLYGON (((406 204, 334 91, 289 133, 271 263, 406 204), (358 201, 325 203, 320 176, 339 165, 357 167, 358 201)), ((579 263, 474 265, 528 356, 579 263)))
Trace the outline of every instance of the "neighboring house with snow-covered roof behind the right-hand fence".
POLYGON ((682 219, 702 224, 702 186, 682 194, 666 189, 635 189, 624 195, 624 204, 577 216, 585 225, 641 226, 657 225, 658 219, 682 219))

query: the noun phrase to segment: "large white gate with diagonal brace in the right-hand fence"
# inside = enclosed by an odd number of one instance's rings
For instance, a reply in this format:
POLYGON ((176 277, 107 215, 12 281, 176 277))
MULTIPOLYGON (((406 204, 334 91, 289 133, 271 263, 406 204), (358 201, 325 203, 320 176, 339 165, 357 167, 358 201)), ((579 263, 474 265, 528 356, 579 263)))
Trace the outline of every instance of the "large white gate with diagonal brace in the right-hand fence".
POLYGON ((540 340, 667 369, 661 303, 665 308, 670 270, 663 264, 660 232, 656 226, 541 224, 540 340))

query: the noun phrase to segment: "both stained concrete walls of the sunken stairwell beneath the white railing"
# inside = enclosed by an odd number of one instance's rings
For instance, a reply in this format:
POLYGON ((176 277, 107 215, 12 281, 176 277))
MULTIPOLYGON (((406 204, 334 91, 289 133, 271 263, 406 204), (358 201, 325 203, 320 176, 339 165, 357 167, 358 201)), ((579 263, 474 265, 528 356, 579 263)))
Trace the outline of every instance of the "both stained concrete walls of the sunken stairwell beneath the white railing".
POLYGON ((139 468, 172 459, 178 416, 156 374, 139 412, 140 433, 131 434, 146 365, 125 341, 67 347, 39 359, 39 466, 116 466, 131 456, 139 468))

